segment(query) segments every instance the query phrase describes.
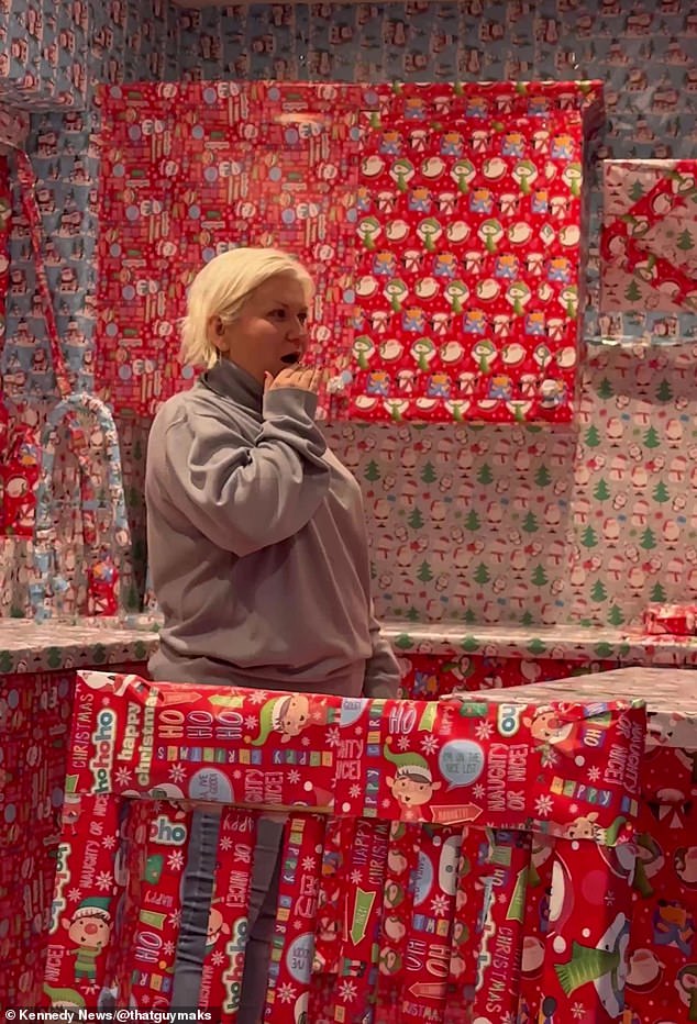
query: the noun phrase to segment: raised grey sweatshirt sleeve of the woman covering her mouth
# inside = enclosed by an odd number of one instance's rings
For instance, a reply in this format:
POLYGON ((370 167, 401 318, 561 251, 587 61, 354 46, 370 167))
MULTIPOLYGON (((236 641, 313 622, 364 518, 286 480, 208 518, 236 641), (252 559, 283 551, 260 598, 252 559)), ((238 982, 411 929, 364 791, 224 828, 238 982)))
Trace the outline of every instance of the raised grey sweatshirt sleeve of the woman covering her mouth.
POLYGON ((170 502, 209 541, 237 556, 291 537, 329 490, 316 409, 317 397, 309 391, 267 392, 253 445, 234 422, 215 415, 197 415, 195 430, 186 418, 174 421, 161 452, 170 502))

